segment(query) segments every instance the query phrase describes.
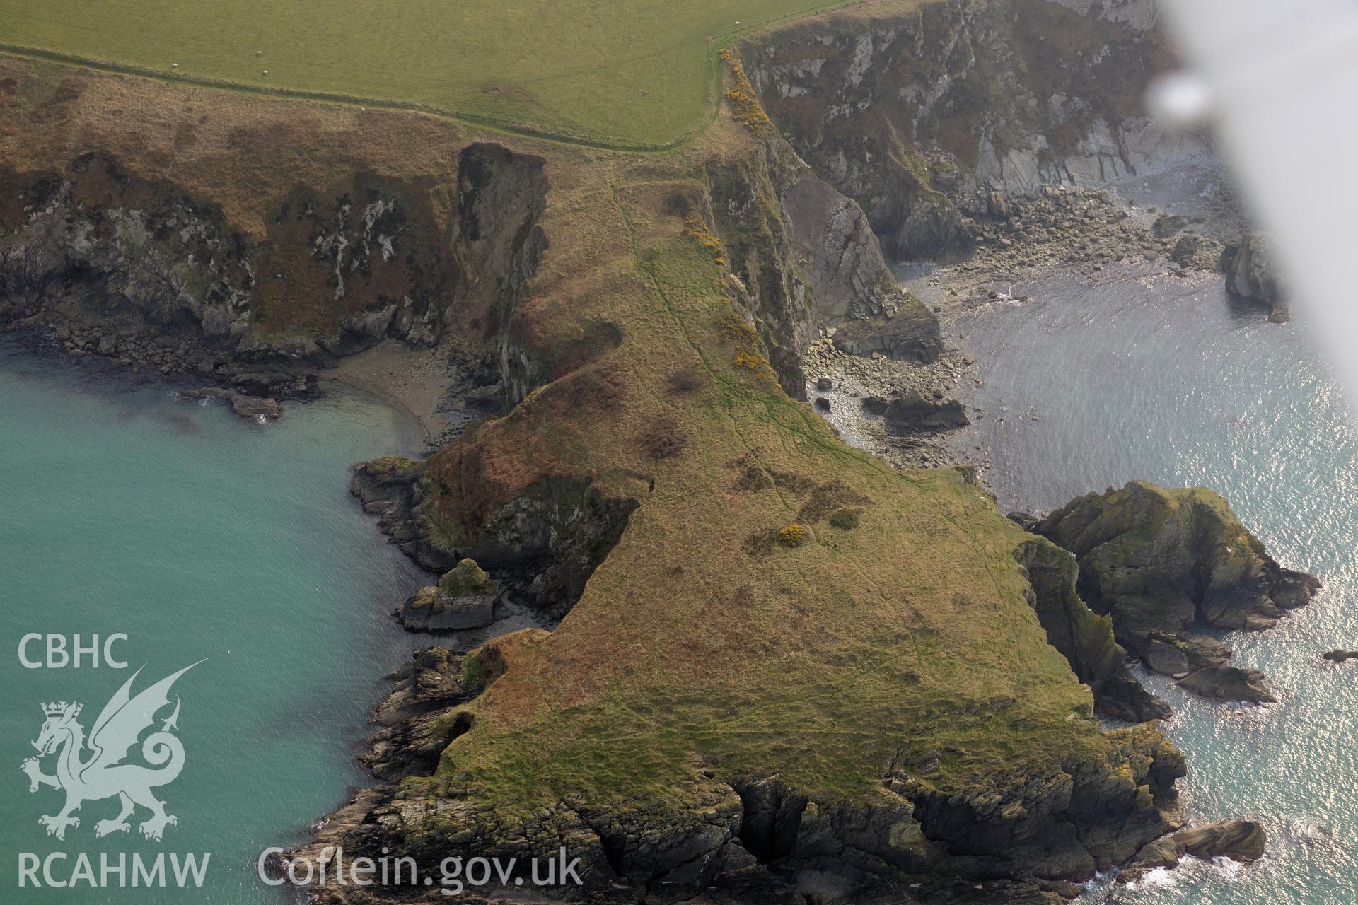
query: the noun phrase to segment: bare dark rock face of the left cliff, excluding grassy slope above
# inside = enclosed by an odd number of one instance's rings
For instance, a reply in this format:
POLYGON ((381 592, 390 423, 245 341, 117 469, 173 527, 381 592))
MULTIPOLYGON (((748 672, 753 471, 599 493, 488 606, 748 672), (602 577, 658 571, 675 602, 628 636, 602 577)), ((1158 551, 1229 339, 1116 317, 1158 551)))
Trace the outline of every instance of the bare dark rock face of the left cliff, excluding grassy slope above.
POLYGON ((295 189, 263 236, 228 223, 210 190, 100 151, 0 167, 0 324, 261 393, 314 387, 316 368, 384 338, 429 346, 456 327, 521 392, 540 369, 507 327, 546 246, 543 166, 473 144, 449 193, 435 175, 356 170, 295 189))

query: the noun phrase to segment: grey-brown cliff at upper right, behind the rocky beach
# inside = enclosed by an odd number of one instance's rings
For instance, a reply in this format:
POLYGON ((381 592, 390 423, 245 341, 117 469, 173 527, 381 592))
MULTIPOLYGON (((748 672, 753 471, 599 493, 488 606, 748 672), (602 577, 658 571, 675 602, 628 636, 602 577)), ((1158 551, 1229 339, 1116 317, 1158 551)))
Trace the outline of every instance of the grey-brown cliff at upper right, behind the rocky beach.
POLYGON ((963 248, 991 193, 1103 182, 1209 155, 1141 110, 1172 65, 1143 0, 947 0, 827 16, 743 46, 760 100, 900 259, 963 248))

